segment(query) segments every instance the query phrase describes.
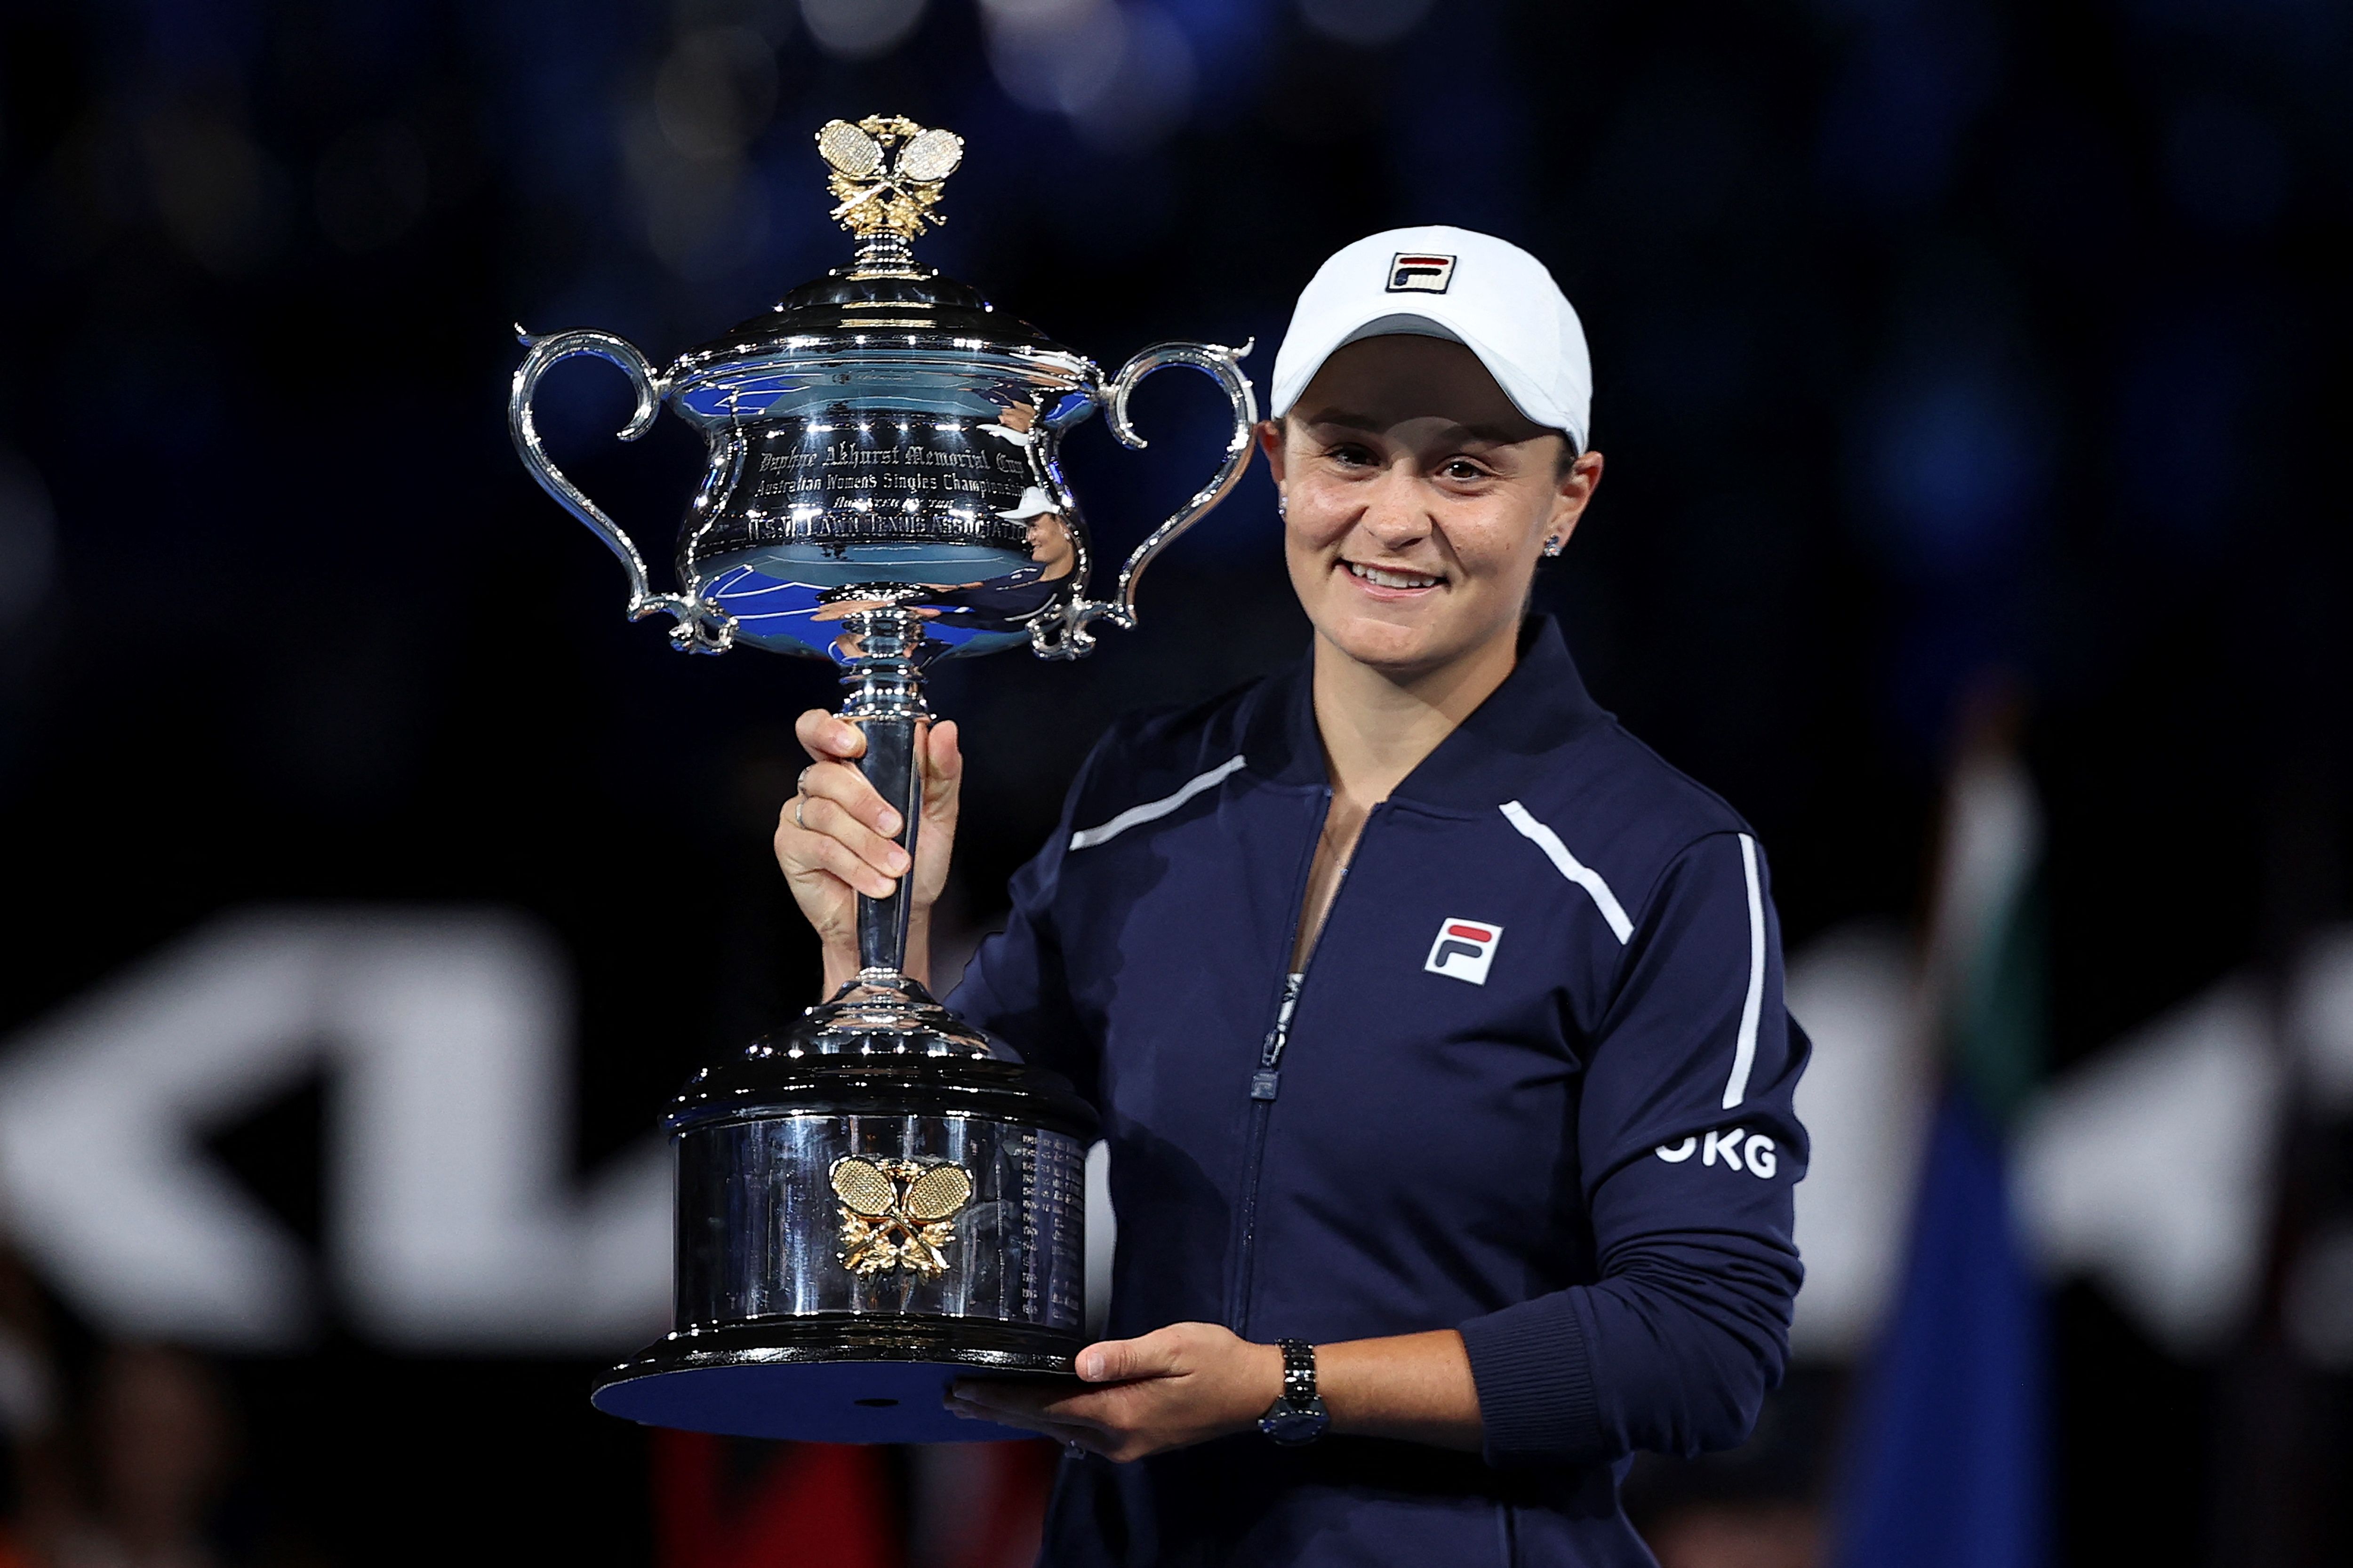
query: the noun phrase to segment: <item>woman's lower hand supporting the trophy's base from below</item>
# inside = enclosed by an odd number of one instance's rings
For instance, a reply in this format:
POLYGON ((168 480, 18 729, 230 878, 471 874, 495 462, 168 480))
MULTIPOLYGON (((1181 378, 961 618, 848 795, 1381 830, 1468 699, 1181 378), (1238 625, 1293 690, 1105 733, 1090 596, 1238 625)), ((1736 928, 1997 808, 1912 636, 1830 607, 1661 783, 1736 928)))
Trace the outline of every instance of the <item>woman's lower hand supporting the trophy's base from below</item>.
POLYGON ((1254 1429, 1282 1394, 1282 1352, 1217 1324, 1169 1324, 1141 1340, 1089 1345, 1078 1352, 1078 1375, 1101 1387, 965 1378, 948 1408, 1125 1465, 1254 1429))

